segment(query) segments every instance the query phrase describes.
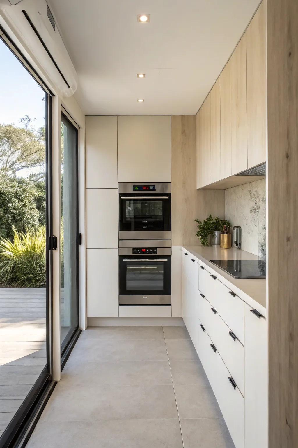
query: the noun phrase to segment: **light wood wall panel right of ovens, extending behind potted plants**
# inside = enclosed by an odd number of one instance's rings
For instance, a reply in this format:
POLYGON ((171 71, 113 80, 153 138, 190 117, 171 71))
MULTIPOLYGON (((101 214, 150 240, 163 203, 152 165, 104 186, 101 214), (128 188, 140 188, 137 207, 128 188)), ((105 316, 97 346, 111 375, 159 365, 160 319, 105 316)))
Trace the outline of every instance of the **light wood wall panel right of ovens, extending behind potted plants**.
POLYGON ((196 117, 173 115, 172 134, 172 246, 197 246, 196 218, 210 213, 225 216, 224 190, 197 190, 196 117))

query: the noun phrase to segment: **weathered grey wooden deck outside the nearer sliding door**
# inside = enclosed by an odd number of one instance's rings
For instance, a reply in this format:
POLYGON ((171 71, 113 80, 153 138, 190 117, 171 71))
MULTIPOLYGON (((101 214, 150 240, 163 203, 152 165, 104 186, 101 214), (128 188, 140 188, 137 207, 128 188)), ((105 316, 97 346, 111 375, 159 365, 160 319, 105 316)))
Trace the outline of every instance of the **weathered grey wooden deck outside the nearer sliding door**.
POLYGON ((0 435, 46 365, 46 289, 0 288, 0 435))

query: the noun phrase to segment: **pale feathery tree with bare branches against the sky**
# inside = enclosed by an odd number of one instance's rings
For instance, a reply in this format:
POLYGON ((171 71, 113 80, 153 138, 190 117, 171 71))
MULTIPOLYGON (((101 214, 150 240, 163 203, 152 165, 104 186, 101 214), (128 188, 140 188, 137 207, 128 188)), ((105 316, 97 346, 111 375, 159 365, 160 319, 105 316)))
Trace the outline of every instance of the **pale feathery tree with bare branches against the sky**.
POLYGON ((20 121, 22 127, 0 124, 0 170, 10 175, 45 164, 45 128, 36 131, 28 115, 20 121))

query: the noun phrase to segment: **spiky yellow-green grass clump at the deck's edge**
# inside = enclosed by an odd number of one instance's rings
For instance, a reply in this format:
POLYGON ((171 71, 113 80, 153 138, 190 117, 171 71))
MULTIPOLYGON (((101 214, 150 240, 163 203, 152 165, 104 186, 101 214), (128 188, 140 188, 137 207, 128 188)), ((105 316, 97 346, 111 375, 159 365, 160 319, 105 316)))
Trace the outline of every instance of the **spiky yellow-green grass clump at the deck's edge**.
POLYGON ((46 286, 46 228, 26 229, 13 241, 0 238, 0 285, 16 288, 46 286))

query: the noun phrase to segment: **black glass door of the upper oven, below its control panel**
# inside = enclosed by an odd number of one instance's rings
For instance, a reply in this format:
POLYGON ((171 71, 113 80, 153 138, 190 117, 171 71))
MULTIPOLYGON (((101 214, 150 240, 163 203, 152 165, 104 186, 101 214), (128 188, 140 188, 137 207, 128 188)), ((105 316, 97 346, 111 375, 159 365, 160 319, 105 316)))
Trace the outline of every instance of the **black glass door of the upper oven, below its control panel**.
POLYGON ((119 194, 119 238, 171 238, 171 194, 119 194))

